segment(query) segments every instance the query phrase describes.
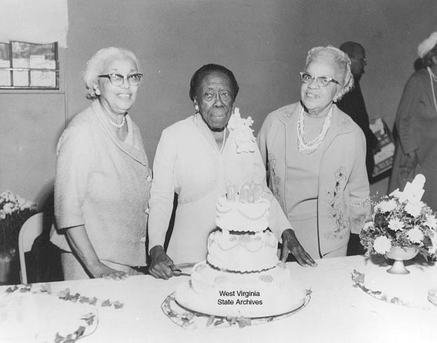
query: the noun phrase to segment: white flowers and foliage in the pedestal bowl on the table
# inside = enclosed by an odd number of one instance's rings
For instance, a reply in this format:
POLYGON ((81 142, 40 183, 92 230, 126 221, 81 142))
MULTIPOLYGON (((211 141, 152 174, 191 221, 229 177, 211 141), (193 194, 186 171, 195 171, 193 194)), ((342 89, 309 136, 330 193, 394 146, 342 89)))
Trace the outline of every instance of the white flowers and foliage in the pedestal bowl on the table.
POLYGON ((419 254, 437 256, 437 219, 433 210, 420 201, 424 176, 417 175, 404 191, 382 197, 375 204, 372 219, 360 233, 366 255, 389 253, 392 247, 416 247, 419 254))

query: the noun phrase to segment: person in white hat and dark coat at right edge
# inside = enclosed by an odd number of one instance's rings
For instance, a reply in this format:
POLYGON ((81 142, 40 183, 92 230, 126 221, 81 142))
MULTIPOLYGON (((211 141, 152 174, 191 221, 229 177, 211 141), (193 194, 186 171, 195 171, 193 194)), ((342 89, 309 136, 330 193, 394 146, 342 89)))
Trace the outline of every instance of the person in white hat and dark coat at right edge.
POLYGON ((398 139, 389 191, 403 189, 417 173, 426 177, 422 201, 437 210, 437 32, 417 48, 422 59, 403 90, 395 126, 398 139))

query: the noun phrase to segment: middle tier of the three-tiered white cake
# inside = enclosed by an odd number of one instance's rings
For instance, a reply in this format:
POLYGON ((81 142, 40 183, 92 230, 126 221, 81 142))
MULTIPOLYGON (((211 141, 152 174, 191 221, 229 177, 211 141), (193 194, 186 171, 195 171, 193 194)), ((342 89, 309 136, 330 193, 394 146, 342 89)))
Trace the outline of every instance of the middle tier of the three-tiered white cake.
POLYGON ((278 264, 278 241, 271 231, 231 234, 213 231, 208 236, 207 261, 228 271, 261 271, 278 264))

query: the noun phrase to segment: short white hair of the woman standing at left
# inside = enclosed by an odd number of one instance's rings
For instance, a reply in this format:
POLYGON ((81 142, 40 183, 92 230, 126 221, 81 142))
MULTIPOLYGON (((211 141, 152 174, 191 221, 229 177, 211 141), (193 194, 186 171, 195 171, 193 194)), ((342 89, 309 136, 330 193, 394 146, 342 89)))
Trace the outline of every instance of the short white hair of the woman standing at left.
POLYGON ((88 62, 86 62, 86 69, 83 72, 83 81, 85 81, 86 97, 88 99, 95 99, 98 97, 95 94, 95 85, 98 83, 98 76, 105 72, 107 63, 117 58, 130 58, 135 62, 137 70, 140 69, 140 62, 132 51, 123 48, 102 48, 93 55, 88 62))

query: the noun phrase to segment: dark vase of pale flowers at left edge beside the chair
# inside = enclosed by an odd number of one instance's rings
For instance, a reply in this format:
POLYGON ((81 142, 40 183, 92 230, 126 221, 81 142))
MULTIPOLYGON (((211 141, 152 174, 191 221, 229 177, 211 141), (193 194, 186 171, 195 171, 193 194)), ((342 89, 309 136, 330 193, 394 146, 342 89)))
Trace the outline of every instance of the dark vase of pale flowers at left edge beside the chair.
POLYGON ((37 212, 36 204, 11 191, 0 194, 0 285, 8 283, 18 251, 18 234, 25 221, 37 212))

